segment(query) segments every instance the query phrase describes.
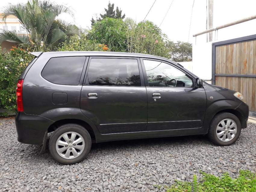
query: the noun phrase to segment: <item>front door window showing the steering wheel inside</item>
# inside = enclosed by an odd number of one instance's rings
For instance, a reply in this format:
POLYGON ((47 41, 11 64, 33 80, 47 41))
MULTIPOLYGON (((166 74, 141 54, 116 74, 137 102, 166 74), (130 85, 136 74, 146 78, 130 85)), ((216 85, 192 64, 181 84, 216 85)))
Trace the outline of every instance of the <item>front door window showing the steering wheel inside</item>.
POLYGON ((143 63, 151 87, 193 87, 192 79, 176 67, 155 60, 143 63))

